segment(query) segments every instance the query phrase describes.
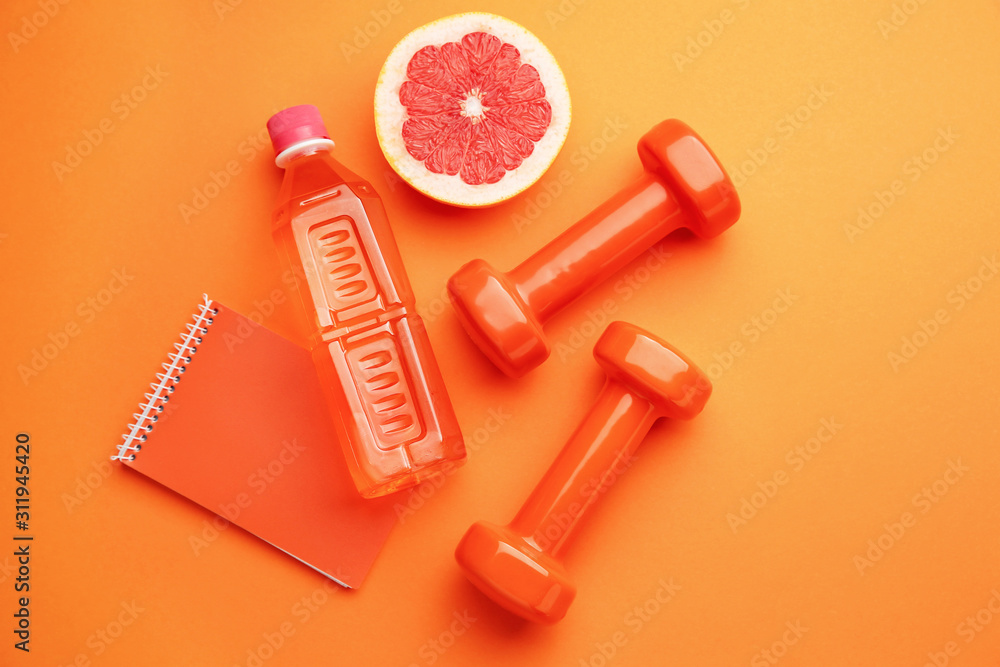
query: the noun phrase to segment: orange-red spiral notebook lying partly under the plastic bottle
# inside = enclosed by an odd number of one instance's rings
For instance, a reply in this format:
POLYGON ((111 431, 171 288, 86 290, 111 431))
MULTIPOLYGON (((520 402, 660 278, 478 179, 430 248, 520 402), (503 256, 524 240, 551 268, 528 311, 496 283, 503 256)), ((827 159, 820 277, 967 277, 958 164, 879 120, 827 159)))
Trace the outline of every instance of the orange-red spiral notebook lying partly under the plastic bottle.
POLYGON ((309 352, 207 296, 112 459, 349 588, 396 522, 354 488, 309 352))

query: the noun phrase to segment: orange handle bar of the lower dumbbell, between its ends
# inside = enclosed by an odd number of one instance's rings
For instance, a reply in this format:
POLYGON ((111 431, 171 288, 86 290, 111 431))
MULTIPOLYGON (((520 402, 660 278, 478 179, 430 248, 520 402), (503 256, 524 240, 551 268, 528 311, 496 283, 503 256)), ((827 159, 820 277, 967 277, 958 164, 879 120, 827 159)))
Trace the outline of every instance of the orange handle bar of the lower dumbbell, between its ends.
POLYGON ((513 532, 552 556, 561 553, 583 513, 620 474, 660 413, 608 379, 597 402, 510 523, 513 532))

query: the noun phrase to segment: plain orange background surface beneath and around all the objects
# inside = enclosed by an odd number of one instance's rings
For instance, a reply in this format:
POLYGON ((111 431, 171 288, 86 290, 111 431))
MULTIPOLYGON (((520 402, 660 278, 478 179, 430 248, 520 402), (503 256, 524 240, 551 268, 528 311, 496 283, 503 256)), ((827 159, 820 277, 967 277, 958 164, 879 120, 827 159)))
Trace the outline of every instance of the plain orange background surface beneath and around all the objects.
POLYGON ((26 431, 36 540, 29 656, 12 648, 12 556, 0 556, 0 663, 1000 660, 997 2, 225 1, 2 10, 0 539, 13 544, 14 436, 26 431), (573 99, 548 174, 487 210, 396 182, 372 119, 390 48, 463 10, 535 32, 573 99), (202 292, 279 333, 297 325, 268 233, 280 173, 261 130, 300 103, 319 106, 338 158, 385 200, 471 450, 422 505, 400 496, 416 509, 354 592, 327 591, 236 529, 195 556, 189 537, 210 514, 139 476, 100 474, 202 292), (448 276, 473 257, 502 269, 525 258, 633 179, 636 140, 667 117, 727 165, 741 221, 712 242, 662 242, 666 262, 643 256, 549 324, 567 347, 521 380, 501 376, 442 301, 448 276), (53 167, 88 142, 78 166, 53 167), (185 221, 181 205, 230 162, 238 173, 185 221), (859 208, 872 218, 852 231, 859 208), (792 305, 770 311, 783 290, 792 305), (602 382, 589 322, 602 318, 671 341, 716 391, 695 421, 657 425, 588 517, 566 559, 579 585, 566 619, 526 625, 467 584, 452 551, 474 520, 513 516, 586 413, 602 382), (23 379, 53 341, 63 349, 23 379), (832 438, 823 419, 839 425, 832 438), (818 433, 827 442, 799 463, 795 448, 818 433), (946 474, 949 462, 967 470, 946 474), (744 499, 759 507, 734 529, 744 499), (869 551, 866 566, 856 557, 869 551), (657 602, 671 582, 680 590, 657 602))

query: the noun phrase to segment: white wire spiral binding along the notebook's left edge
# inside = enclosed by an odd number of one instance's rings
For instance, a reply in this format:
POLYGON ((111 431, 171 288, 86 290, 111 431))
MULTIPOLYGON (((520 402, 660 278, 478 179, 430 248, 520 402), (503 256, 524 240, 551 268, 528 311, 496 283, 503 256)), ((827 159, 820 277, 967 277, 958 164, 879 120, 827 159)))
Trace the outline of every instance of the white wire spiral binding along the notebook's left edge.
POLYGON ((169 363, 163 364, 163 373, 156 374, 156 382, 150 383, 151 393, 146 394, 146 402, 139 404, 139 412, 132 415, 135 421, 129 425, 128 432, 122 436, 122 444, 118 445, 118 453, 111 457, 112 461, 134 461, 135 453, 142 449, 146 434, 153 430, 153 424, 160 418, 163 405, 170 400, 177 383, 181 381, 187 365, 191 363, 192 355, 198 351, 202 336, 208 333, 213 315, 219 314, 219 309, 212 305, 212 300, 203 294, 204 301, 198 305, 198 313, 194 322, 187 324, 187 333, 181 336, 181 342, 174 343, 176 352, 169 355, 169 363))

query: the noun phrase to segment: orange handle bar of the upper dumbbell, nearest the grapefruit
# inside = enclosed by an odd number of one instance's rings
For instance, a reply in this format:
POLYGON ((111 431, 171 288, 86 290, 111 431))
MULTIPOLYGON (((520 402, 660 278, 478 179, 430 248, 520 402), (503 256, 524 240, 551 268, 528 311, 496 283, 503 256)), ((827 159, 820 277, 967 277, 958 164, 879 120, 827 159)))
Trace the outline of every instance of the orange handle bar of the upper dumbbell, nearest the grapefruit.
POLYGON ((545 322, 684 224, 677 198, 650 172, 619 190, 508 274, 545 322))

